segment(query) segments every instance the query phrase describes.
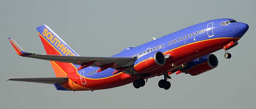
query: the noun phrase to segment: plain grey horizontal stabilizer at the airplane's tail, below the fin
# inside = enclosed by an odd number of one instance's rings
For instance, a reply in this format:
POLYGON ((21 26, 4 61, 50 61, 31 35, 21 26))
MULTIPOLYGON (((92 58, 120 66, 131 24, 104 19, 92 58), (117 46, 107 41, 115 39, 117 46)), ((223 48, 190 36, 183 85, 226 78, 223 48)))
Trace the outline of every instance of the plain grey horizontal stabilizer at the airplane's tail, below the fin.
POLYGON ((32 83, 44 83, 44 84, 55 84, 55 83, 65 83, 67 82, 68 77, 59 77, 59 78, 9 78, 8 81, 23 81, 23 82, 32 82, 32 83))

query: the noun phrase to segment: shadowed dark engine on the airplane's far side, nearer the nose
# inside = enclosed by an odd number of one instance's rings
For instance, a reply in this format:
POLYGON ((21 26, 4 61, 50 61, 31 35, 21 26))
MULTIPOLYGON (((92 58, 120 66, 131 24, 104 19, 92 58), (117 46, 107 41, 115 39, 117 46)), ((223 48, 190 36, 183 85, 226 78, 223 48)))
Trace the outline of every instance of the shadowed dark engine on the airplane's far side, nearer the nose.
POLYGON ((218 58, 214 54, 208 54, 189 62, 184 72, 195 76, 214 69, 218 64, 218 58))

